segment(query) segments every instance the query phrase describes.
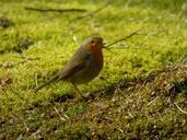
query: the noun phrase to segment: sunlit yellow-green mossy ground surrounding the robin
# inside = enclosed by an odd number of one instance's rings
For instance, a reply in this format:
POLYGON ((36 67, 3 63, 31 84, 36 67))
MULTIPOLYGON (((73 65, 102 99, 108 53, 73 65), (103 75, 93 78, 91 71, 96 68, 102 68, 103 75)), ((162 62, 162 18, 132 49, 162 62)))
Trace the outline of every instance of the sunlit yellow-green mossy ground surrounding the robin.
POLYGON ((24 7, 86 9, 102 1, 0 1, 0 139, 185 139, 187 25, 183 0, 117 0, 92 16, 24 7), (8 24, 9 25, 9 24, 8 24), (105 42, 139 35, 104 50, 104 68, 74 89, 33 89, 60 70, 90 35, 105 42), (36 81, 37 79, 37 81, 36 81), (178 108, 179 107, 179 108, 178 108), (182 109, 182 110, 180 110, 182 109))

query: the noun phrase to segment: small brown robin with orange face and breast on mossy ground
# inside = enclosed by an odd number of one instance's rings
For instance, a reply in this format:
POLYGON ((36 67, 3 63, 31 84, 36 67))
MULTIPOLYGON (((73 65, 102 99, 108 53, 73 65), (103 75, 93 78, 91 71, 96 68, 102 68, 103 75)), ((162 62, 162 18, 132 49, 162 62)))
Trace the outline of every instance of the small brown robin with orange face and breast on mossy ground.
POLYGON ((47 82, 36 86, 35 92, 51 82, 66 81, 72 83, 75 91, 82 96, 78 89, 79 84, 84 84, 96 78, 103 69, 103 38, 91 36, 77 49, 69 62, 47 82))

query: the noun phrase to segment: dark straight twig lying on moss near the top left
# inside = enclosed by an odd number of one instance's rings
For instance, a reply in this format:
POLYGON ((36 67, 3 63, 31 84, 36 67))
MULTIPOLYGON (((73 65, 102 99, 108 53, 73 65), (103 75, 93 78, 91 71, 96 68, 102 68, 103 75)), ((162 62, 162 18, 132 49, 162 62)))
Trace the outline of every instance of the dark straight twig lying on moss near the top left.
POLYGON ((36 12, 86 12, 87 10, 85 9, 52 9, 52 8, 30 8, 25 7, 25 10, 31 10, 31 11, 36 11, 36 12))

